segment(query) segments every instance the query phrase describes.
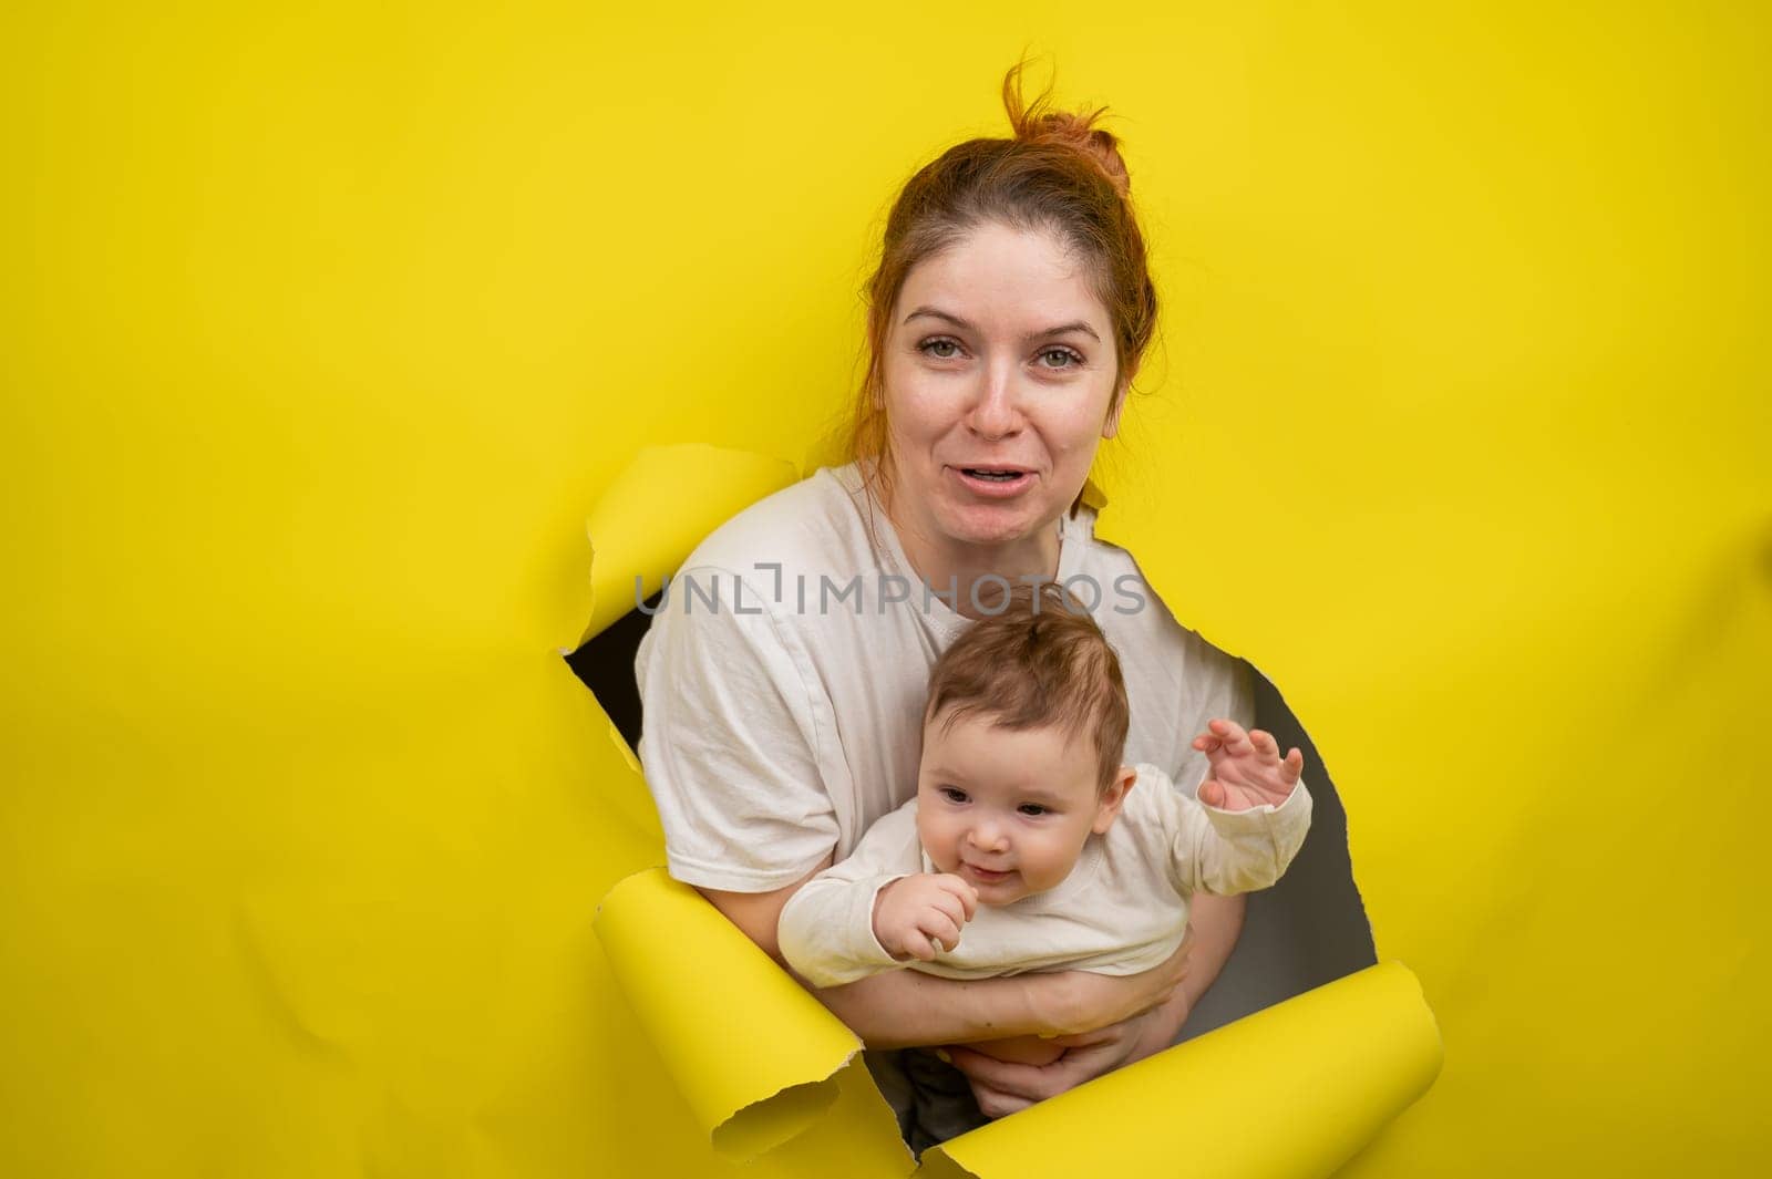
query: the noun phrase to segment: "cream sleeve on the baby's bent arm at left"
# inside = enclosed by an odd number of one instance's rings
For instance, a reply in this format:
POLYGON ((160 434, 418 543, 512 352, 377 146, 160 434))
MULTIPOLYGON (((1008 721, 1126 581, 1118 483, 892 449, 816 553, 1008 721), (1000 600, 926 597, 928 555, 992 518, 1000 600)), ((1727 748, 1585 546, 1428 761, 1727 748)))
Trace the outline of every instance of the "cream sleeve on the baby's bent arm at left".
POLYGON ((842 986, 902 967, 874 936, 874 898, 921 866, 913 798, 874 823, 849 859, 789 898, 776 926, 781 956, 813 986, 842 986))

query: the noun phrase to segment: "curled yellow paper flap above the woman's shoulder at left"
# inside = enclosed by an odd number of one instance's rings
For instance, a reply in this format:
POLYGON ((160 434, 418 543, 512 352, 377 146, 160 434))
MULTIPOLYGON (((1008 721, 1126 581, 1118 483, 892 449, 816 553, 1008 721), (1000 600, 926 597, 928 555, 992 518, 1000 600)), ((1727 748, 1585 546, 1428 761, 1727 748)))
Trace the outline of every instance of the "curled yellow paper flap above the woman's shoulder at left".
POLYGON ((585 520, 592 607, 579 643, 657 593, 718 524, 796 478, 794 464, 742 450, 700 443, 640 450, 585 520))

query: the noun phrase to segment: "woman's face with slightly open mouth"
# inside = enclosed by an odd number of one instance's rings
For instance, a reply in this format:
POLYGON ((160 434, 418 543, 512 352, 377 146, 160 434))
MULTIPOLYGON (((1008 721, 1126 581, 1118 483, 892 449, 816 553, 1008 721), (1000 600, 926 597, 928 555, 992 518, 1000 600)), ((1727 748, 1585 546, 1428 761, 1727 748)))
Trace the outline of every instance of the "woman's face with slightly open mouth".
POLYGON ((987 223, 920 262, 886 336, 895 515, 1003 545, 1070 508, 1118 430, 1108 308, 1058 237, 987 223))

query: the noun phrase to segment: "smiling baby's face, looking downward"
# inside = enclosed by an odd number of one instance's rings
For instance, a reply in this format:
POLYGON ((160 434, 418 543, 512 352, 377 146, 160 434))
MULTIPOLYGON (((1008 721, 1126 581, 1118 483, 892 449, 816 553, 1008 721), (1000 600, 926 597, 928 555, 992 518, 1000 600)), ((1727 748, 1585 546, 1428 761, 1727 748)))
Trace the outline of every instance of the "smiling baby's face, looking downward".
POLYGON ((916 834, 936 871, 964 878, 985 905, 1054 887, 1118 811, 1118 797, 1097 797, 1093 742, 1056 726, 1015 731, 968 715, 943 728, 944 719, 923 728, 916 782, 916 834))

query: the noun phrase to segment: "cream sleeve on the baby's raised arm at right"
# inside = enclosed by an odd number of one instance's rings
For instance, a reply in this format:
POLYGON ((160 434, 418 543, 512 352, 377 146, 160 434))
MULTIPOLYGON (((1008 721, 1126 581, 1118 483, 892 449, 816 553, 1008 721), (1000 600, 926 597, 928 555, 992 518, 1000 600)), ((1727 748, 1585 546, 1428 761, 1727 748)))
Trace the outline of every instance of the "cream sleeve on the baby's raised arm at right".
MULTIPOLYGON (((1139 777, 1155 767, 1139 767, 1139 777)), ((1224 811, 1175 790, 1161 790, 1170 834, 1170 873, 1187 892, 1253 892, 1272 887, 1292 864, 1311 827, 1311 793, 1301 781, 1283 804, 1224 811)))

